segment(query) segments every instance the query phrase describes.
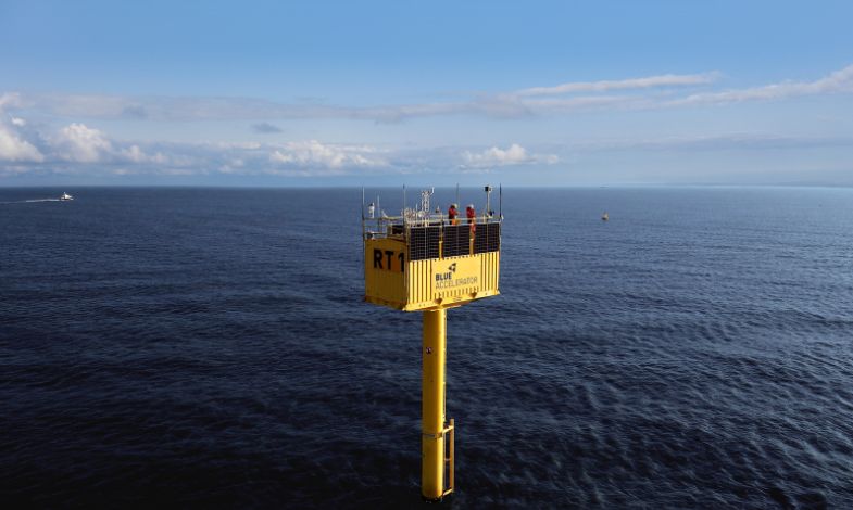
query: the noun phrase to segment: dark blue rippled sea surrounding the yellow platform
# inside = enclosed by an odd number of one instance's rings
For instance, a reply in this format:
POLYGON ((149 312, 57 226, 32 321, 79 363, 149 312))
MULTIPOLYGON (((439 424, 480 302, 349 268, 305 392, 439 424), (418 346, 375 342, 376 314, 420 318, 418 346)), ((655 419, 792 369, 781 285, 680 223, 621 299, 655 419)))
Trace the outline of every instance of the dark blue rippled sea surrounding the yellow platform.
MULTIPOLYGON (((421 505, 421 316, 363 303, 361 201, 0 189, 0 505, 421 505)), ((853 508, 853 189, 502 212, 502 295, 448 313, 443 506, 853 508)))

